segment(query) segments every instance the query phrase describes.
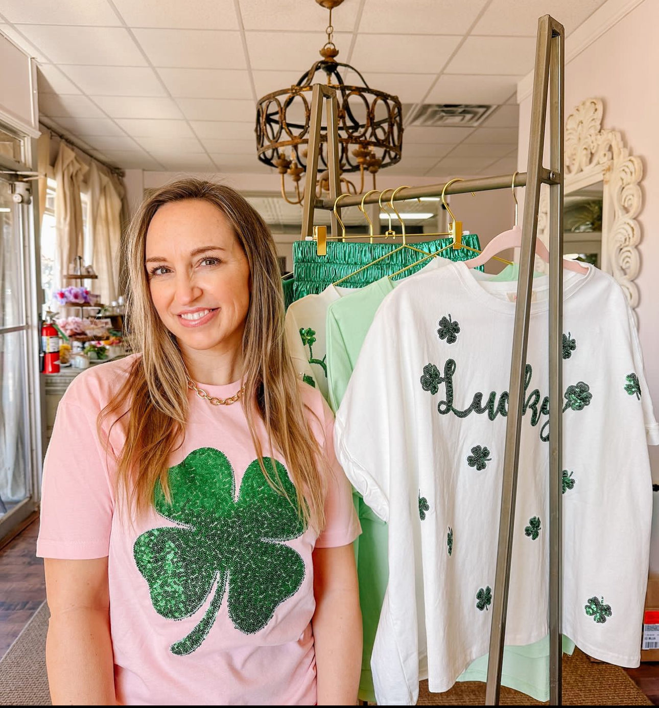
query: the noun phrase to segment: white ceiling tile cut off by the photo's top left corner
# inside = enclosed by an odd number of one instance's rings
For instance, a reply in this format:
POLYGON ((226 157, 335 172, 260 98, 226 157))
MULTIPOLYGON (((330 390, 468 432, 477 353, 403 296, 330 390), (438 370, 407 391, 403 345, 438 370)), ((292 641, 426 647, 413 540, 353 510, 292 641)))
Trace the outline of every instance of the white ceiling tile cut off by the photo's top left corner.
POLYGON ((40 25, 119 25, 105 0, 0 0, 0 13, 11 23, 40 25))

